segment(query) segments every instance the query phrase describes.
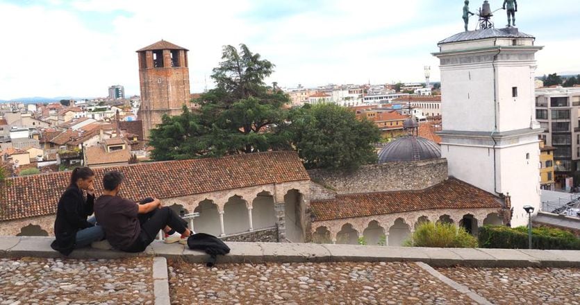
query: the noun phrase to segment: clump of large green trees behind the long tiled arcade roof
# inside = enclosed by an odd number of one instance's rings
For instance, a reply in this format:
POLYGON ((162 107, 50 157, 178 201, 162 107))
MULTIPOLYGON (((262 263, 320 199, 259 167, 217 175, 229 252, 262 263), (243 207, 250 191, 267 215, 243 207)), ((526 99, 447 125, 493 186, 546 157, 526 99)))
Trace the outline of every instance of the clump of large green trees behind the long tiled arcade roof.
POLYGON ((224 46, 222 61, 213 69, 216 82, 183 105, 179 116, 163 116, 151 130, 149 143, 154 160, 222 157, 268 150, 298 150, 307 168, 356 167, 376 162, 370 143, 379 141, 379 130, 358 121, 345 107, 322 104, 290 110, 290 98, 264 80, 274 64, 251 53, 224 46))

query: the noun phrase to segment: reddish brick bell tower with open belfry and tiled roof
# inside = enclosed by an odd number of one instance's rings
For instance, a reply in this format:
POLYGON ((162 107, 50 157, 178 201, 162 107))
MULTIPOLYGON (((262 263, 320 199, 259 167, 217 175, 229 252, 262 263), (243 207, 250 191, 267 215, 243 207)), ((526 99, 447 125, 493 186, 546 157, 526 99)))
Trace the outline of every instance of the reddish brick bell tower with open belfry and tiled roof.
POLYGON ((190 101, 188 51, 165 40, 137 51, 141 87, 138 118, 146 140, 163 114, 179 115, 181 107, 190 101))

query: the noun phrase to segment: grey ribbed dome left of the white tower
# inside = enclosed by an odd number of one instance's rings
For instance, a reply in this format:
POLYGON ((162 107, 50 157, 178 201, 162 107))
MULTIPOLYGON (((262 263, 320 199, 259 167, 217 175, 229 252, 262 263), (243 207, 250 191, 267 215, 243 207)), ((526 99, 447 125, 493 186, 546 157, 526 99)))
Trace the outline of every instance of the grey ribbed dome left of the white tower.
POLYGON ((428 139, 422 137, 401 137, 388 143, 379 152, 379 163, 408 162, 439 159, 441 149, 428 139))

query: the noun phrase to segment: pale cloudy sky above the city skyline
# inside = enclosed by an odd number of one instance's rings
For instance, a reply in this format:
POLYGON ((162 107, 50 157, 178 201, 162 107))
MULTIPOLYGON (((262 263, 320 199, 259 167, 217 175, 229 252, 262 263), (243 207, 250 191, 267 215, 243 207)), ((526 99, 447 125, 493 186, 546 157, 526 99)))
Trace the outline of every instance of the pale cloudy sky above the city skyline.
MULTIPOLYGON (((534 35, 536 73, 580 73, 578 0, 520 0, 520 31, 534 35)), ((490 0, 492 10, 501 0, 490 0)), ((474 12, 480 1, 471 1, 474 12)), ((276 65, 281 87, 439 79, 437 42, 463 31, 462 0, 0 0, 0 99, 139 94, 136 50, 167 40, 190 50, 192 92, 222 46, 247 44, 276 65)), ((475 27, 470 19, 470 30, 475 27)), ((504 10, 496 27, 506 24, 504 10)))

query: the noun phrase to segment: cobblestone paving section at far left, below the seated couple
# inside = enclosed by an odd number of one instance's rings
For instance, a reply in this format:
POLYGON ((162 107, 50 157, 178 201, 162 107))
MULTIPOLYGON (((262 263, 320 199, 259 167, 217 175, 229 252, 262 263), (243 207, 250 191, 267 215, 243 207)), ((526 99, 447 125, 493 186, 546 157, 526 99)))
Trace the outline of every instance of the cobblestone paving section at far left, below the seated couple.
POLYGON ((152 258, 0 259, 0 304, 153 304, 152 258))

